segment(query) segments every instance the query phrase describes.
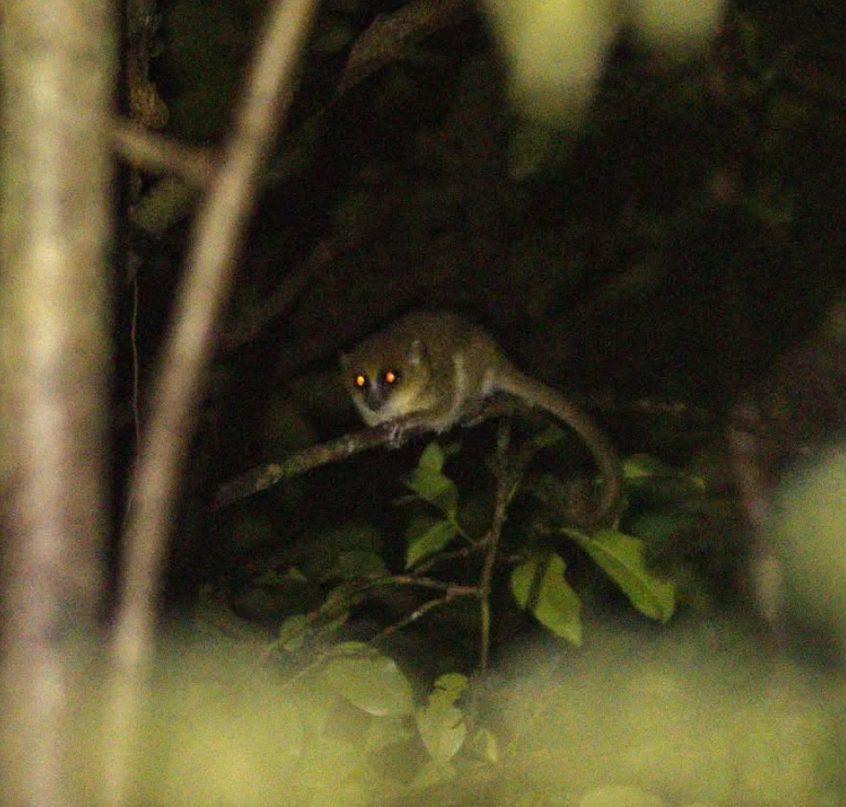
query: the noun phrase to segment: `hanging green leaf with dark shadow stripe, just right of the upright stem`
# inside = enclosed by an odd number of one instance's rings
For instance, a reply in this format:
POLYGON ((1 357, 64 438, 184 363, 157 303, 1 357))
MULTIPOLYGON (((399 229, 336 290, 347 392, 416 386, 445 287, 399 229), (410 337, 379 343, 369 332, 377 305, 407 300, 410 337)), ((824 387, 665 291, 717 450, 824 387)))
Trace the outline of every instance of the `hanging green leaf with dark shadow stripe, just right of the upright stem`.
POLYGON ((531 555, 512 572, 512 592, 541 625, 572 644, 582 642, 581 602, 564 579, 558 555, 531 555))

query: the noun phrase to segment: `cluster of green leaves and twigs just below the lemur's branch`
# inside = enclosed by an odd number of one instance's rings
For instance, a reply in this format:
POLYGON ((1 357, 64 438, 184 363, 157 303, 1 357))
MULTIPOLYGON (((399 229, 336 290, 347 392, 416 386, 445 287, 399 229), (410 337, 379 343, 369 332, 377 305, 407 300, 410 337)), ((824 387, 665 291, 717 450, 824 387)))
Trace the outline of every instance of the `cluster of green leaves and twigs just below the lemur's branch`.
MULTIPOLYGON (((325 533, 295 567, 262 573, 256 585, 276 590, 287 603, 276 652, 319 655, 351 631, 356 635, 364 618, 374 646, 391 646, 412 626, 415 632, 424 628, 430 639, 444 630, 465 632, 465 642, 476 635, 477 665, 483 668, 492 630, 508 608, 531 615, 544 629, 578 645, 584 638, 582 570, 591 565, 641 615, 661 623, 670 620, 677 583, 671 570, 651 567, 648 552, 648 542, 656 530, 666 530, 665 522, 642 512, 629 518, 634 531, 618 527, 589 533, 555 520, 533 524, 517 510, 519 519, 506 530, 508 512, 518 500, 534 501, 535 509, 539 502, 545 505, 545 518, 566 512, 560 500, 568 488, 550 474, 516 478, 497 465, 489 484, 498 490, 502 515, 494 506, 485 524, 484 515, 473 513, 478 504, 465 506, 469 494, 447 472, 447 461, 458 452, 456 445, 430 443, 404 481, 408 494, 396 503, 407 513, 402 569, 392 569, 379 530, 349 524, 325 533)), ((677 513, 703 506, 700 483, 655 461, 633 457, 626 474, 630 489, 636 493, 640 488, 641 494, 672 481, 677 513), (686 491, 687 504, 679 491, 686 491)), ((589 592, 589 600, 593 596, 589 592)))

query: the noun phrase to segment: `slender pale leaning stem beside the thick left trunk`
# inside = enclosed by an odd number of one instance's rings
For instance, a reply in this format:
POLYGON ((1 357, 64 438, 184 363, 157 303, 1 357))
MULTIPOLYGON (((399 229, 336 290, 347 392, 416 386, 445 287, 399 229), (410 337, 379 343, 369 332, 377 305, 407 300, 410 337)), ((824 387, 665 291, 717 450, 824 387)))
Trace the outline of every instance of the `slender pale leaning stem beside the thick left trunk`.
POLYGON ((316 0, 278 0, 260 38, 244 101, 198 215, 176 319, 132 477, 116 625, 105 803, 126 804, 152 653, 159 579, 179 479, 194 431, 214 336, 249 219, 258 171, 294 87, 316 0))

